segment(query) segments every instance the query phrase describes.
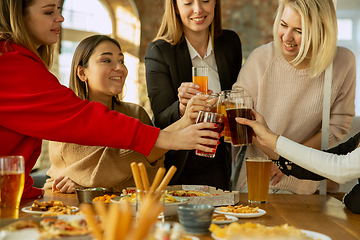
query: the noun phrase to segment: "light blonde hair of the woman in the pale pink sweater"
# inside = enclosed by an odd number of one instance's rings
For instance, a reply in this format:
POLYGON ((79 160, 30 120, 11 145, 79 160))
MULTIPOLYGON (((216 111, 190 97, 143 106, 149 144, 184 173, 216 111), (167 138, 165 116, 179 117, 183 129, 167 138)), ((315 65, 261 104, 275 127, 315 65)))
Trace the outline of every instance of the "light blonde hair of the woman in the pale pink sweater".
POLYGON ((337 44, 337 18, 332 0, 280 0, 273 27, 276 49, 282 51, 278 29, 286 6, 301 17, 301 45, 291 61, 294 66, 309 60, 309 75, 319 76, 333 61, 337 44))

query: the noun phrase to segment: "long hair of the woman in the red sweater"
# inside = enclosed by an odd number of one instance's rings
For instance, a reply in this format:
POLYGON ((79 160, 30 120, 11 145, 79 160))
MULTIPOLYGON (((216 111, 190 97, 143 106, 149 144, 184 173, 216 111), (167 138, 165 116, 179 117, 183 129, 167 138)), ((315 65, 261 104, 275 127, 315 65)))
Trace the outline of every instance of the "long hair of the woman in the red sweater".
MULTIPOLYGON (((43 45, 36 49, 26 30, 24 15, 34 0, 0 1, 0 41, 14 42, 32 51, 49 69, 51 67, 54 45, 43 45)), ((9 45, 10 46, 10 45, 9 45)))

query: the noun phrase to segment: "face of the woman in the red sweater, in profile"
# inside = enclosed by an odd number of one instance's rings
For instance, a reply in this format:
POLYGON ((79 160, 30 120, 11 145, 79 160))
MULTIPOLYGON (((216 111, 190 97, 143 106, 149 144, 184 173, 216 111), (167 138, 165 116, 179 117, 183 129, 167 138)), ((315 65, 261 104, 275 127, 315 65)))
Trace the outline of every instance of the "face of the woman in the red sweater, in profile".
POLYGON ((36 48, 58 41, 61 23, 64 21, 59 4, 59 0, 34 0, 25 9, 25 26, 36 48))

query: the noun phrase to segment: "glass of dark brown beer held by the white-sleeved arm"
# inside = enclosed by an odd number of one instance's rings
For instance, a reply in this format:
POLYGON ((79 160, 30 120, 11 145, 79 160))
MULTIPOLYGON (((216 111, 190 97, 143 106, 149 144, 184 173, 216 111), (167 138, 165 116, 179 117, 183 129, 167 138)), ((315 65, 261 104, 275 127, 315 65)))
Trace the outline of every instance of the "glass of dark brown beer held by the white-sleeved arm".
POLYGON ((252 98, 244 90, 230 92, 228 98, 225 99, 225 107, 232 145, 235 147, 252 145, 253 129, 235 120, 236 117, 252 119, 252 98))

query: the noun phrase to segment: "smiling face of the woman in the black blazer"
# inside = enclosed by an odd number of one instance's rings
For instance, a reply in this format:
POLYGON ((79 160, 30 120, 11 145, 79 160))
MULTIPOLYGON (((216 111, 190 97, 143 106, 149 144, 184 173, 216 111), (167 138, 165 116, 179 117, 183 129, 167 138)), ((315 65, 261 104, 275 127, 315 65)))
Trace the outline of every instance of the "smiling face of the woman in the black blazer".
POLYGON ((176 0, 185 35, 208 33, 215 15, 216 0, 176 0))

